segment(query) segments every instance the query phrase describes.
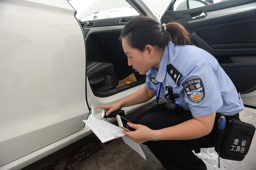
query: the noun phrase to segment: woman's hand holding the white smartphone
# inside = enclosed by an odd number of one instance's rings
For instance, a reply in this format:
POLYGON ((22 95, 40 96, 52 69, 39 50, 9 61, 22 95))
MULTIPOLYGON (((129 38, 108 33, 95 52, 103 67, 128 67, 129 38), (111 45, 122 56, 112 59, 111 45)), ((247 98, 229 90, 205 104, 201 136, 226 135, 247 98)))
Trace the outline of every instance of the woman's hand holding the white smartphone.
POLYGON ((131 124, 127 123, 129 127, 132 127, 136 129, 136 131, 127 132, 123 131, 124 135, 126 135, 128 138, 132 139, 132 141, 136 143, 144 143, 146 141, 153 141, 153 136, 156 131, 151 130, 150 128, 139 125, 139 124, 131 124))

